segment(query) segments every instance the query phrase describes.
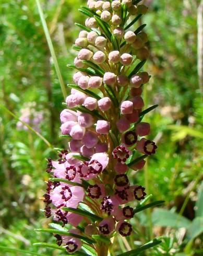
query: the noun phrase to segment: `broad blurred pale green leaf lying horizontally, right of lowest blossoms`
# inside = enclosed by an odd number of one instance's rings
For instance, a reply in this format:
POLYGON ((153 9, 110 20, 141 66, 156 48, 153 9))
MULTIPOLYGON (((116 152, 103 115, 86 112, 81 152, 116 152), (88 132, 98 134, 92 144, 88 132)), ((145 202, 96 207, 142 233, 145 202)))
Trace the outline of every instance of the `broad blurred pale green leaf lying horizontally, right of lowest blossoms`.
POLYGON ((173 213, 166 209, 156 209, 152 213, 153 225, 162 227, 175 227, 175 228, 189 228, 191 222, 189 219, 180 216, 177 213, 173 213))

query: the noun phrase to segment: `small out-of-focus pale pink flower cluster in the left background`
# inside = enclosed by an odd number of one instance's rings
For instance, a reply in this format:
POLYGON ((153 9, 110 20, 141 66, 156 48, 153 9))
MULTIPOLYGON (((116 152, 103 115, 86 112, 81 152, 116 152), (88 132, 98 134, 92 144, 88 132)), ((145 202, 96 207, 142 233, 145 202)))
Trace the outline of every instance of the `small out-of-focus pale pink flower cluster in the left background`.
POLYGON ((20 118, 17 122, 18 130, 28 130, 28 127, 23 124, 23 122, 29 124, 37 132, 40 131, 40 123, 43 119, 42 111, 36 111, 36 103, 28 102, 25 107, 20 109, 20 118))

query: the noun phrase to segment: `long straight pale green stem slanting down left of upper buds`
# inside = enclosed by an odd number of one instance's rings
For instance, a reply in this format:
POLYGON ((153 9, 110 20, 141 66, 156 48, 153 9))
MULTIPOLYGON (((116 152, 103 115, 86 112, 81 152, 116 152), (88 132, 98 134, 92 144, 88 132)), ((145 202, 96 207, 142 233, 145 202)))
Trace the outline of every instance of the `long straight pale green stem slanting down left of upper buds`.
POLYGON ((44 29, 46 41, 47 41, 47 44, 49 45, 50 53, 51 53, 51 56, 52 56, 52 59, 53 59, 53 62, 54 62, 55 69, 56 69, 56 74, 57 74, 59 84, 61 86, 61 90, 62 90, 64 99, 65 99, 66 96, 67 96, 66 87, 65 87, 65 84, 64 84, 64 81, 63 81, 61 71, 60 71, 59 66, 58 66, 58 61, 56 59, 54 46, 53 46, 53 43, 52 43, 52 40, 51 40, 51 37, 50 37, 49 30, 48 30, 47 25, 46 25, 46 20, 44 18, 44 14, 43 14, 43 10, 42 10, 41 4, 40 4, 40 0, 35 0, 35 1, 37 3, 37 6, 38 6, 38 11, 39 11, 40 19, 41 19, 42 26, 43 26, 43 29, 44 29))

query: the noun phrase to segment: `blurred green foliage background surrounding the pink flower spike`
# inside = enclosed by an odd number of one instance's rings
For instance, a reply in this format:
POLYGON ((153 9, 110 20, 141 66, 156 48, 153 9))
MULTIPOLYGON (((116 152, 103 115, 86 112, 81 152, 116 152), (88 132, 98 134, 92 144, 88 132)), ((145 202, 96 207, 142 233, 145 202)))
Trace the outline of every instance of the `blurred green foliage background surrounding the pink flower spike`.
MULTIPOLYGON (((151 123, 150 138, 158 150, 144 170, 132 173, 132 179, 146 187, 153 200, 165 200, 165 205, 138 214, 133 223, 137 232, 126 241, 117 237, 115 255, 156 236, 163 237, 162 244, 141 255, 203 255, 203 82, 197 68, 198 59, 202 62, 202 52, 197 50, 197 44, 203 43, 202 1, 143 2, 149 5, 142 22, 147 23, 151 52, 145 70, 152 76, 145 102, 147 106, 159 104, 145 120, 151 123)), ((85 21, 77 11, 85 2, 41 3, 67 84, 72 71, 66 64, 73 63, 76 53, 71 44, 79 32, 74 22, 85 21)), ((40 212, 43 202, 39 198, 47 180, 45 159, 56 157, 56 151, 17 125, 8 112, 18 118, 28 108, 41 113, 40 133, 53 146, 66 147, 58 137, 63 95, 34 0, 0 0, 0 85, 1 107, 7 108, 0 108, 0 246, 59 255, 57 250, 32 246, 54 241, 50 234, 37 233, 34 228, 47 227, 50 222, 40 212)), ((14 254, 29 255, 0 250, 0 255, 14 254)))

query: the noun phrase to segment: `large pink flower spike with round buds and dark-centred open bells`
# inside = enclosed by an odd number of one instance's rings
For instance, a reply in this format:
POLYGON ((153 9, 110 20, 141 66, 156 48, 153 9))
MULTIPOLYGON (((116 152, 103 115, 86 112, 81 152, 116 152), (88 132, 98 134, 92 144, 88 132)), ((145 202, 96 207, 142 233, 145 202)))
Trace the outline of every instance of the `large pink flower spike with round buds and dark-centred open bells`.
POLYGON ((46 217, 75 227, 69 230, 72 236, 54 234, 69 253, 81 248, 78 237, 83 236, 94 240, 98 255, 107 255, 95 235, 111 241, 116 232, 132 234, 130 202, 146 196, 145 188, 130 184, 127 176, 142 169, 157 148, 143 137, 150 124, 141 122, 149 112, 141 94, 150 76, 139 71, 149 55, 148 37, 141 32, 144 26, 128 30, 147 11, 139 2, 88 0, 80 9, 88 19, 73 46, 78 54, 69 66, 77 72, 60 115, 68 146, 57 161, 49 159, 53 178, 44 194, 46 217))

